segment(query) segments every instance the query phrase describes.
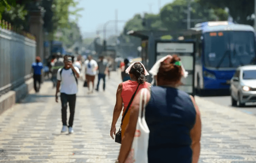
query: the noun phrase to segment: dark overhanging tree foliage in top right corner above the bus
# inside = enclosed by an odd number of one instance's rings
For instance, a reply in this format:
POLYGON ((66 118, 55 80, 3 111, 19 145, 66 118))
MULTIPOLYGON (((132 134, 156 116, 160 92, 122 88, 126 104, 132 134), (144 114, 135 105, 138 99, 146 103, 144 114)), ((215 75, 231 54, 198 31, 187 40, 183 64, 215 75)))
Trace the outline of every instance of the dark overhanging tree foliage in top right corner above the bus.
POLYGON ((216 10, 224 10, 227 7, 234 21, 253 25, 251 15, 254 13, 254 0, 198 0, 198 2, 206 8, 214 8, 216 10))

